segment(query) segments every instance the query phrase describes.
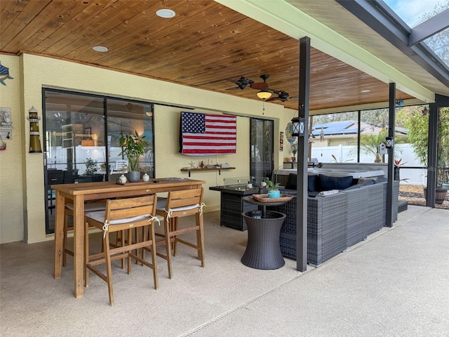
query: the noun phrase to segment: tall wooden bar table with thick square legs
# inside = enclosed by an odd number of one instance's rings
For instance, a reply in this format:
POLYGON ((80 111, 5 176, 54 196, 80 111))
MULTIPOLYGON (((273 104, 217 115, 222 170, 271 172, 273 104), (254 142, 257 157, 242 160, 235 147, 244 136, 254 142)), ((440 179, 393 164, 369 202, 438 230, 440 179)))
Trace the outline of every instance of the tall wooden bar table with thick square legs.
POLYGON ((55 205, 55 260, 53 277, 62 272, 62 239, 64 236, 64 209, 67 201, 74 204, 74 296, 83 297, 84 278, 84 203, 86 201, 137 197, 140 195, 201 188, 206 182, 185 178, 159 178, 148 182, 126 183, 115 181, 52 185, 56 191, 55 205))

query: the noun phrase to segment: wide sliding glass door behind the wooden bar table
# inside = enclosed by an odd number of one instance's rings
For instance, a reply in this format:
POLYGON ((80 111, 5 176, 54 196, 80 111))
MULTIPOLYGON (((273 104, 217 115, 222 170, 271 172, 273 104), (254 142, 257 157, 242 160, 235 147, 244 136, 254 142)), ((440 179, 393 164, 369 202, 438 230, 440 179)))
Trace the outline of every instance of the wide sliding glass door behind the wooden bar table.
POLYGON ((43 89, 43 151, 46 233, 54 232, 51 185, 116 180, 119 139, 145 135, 149 148, 140 168, 154 177, 153 105, 102 95, 43 89))

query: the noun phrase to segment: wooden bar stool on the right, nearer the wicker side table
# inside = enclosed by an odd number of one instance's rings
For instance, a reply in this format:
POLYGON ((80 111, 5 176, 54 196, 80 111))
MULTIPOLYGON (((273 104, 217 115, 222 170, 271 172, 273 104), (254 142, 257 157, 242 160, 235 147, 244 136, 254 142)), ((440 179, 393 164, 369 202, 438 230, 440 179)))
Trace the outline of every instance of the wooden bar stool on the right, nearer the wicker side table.
MULTIPOLYGON (((176 256, 177 242, 190 246, 198 252, 198 259, 201 260, 201 267, 204 267, 204 230, 203 230, 203 188, 196 190, 181 190, 168 192, 167 202, 165 207, 158 207, 156 209, 157 216, 163 216, 164 234, 159 236, 164 237, 166 244, 166 255, 157 253, 157 256, 167 260, 168 277, 172 277, 171 267, 171 251, 173 249, 173 256, 176 256), (178 218, 182 216, 195 215, 196 223, 192 227, 178 228, 178 218), (196 244, 186 242, 177 237, 178 235, 187 232, 196 231, 196 244), (172 247, 173 244, 173 247, 172 247)), ((158 244, 160 244, 158 242, 158 244)))

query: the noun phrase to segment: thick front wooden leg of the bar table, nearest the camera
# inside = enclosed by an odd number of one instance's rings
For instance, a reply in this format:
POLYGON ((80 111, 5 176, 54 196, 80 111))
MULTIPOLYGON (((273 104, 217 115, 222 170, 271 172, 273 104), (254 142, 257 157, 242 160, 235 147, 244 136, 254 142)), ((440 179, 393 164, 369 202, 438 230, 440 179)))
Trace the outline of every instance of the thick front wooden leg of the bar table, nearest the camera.
POLYGON ((74 296, 84 293, 84 196, 74 197, 74 296))

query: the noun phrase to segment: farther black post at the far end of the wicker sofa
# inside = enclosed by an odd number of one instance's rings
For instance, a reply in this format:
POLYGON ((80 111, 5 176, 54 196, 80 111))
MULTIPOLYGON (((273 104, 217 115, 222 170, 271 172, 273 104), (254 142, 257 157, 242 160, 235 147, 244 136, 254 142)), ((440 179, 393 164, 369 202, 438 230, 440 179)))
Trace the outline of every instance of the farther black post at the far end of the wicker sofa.
MULTIPOLYGON (((389 84, 388 136, 394 139, 396 124, 396 83, 389 84)), ((387 227, 393 227, 394 143, 388 148, 387 227)))

